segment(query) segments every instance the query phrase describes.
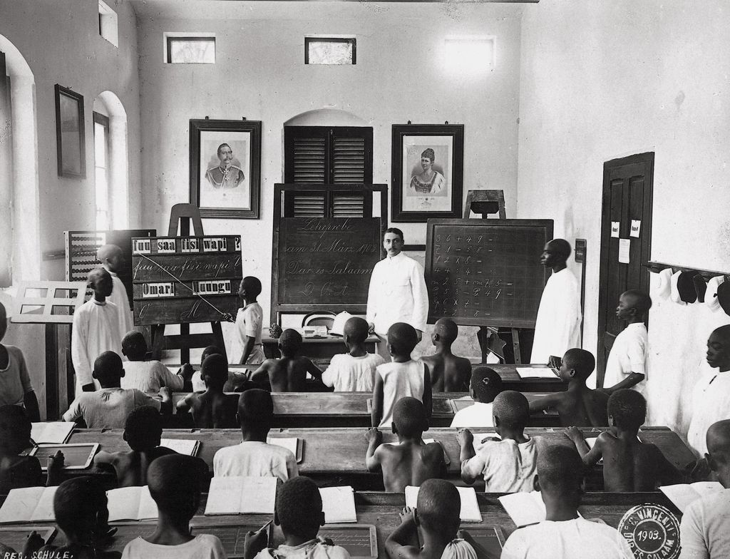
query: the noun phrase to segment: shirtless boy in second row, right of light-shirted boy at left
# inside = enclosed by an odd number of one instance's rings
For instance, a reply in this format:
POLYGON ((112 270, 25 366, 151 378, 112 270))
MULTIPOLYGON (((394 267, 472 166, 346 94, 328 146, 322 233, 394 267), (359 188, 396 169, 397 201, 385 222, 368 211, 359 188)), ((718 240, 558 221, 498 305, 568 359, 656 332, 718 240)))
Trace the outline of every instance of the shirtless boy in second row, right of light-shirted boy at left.
POLYGON ((223 392, 228 380, 228 363, 223 355, 208 355, 200 369, 205 381, 204 393, 192 393, 177 402, 177 412, 191 411, 193 423, 201 429, 232 429, 237 426, 235 394, 223 392))

